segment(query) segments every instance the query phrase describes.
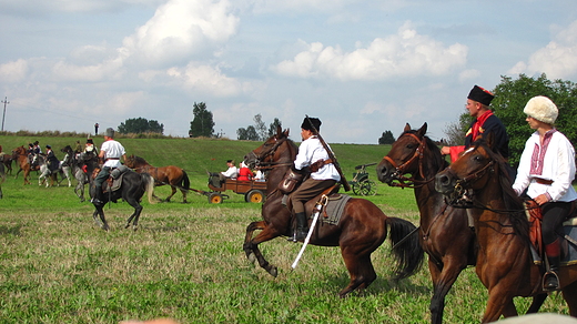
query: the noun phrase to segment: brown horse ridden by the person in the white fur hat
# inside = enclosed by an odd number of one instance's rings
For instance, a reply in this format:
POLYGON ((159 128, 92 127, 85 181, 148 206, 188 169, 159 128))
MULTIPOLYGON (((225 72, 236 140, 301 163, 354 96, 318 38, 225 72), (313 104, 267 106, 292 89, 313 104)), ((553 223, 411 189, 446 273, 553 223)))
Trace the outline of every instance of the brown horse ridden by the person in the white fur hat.
MULTIPOLYGON (((479 245, 476 272, 488 288, 483 323, 516 316, 515 296, 543 295, 544 269, 532 257, 528 220, 513 191, 503 156, 490 149, 492 136, 477 141, 435 178, 435 189, 452 201, 470 204, 479 245)), ((563 296, 577 316, 577 265, 559 272, 563 296)))

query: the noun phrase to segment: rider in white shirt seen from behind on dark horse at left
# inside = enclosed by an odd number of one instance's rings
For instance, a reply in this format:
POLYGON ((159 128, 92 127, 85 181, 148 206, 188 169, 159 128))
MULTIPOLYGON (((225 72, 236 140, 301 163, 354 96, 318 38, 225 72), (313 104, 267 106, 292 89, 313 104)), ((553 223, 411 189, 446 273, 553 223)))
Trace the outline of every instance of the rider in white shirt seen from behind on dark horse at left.
POLYGON ((91 200, 93 204, 102 204, 102 183, 109 178, 112 169, 121 165, 120 158, 122 161, 126 161, 126 152, 121 143, 114 141, 114 130, 108 128, 104 132, 104 142, 100 148, 98 155, 104 161, 100 173, 94 178, 94 198, 91 200))

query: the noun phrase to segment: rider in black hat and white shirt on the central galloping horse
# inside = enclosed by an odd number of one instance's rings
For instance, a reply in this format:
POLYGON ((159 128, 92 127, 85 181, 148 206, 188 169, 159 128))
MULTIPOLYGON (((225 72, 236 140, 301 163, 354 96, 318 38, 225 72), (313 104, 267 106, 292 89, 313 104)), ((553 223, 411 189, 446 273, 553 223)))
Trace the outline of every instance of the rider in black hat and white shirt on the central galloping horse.
POLYGON ((328 153, 316 136, 321 128, 317 118, 305 118, 301 125, 303 142, 298 146, 298 154, 294 160, 294 169, 304 171, 308 169, 311 176, 305 180, 292 194, 293 212, 296 217, 296 233, 288 240, 304 240, 308 233, 304 204, 321 194, 324 190, 341 181, 341 175, 331 162, 328 153))

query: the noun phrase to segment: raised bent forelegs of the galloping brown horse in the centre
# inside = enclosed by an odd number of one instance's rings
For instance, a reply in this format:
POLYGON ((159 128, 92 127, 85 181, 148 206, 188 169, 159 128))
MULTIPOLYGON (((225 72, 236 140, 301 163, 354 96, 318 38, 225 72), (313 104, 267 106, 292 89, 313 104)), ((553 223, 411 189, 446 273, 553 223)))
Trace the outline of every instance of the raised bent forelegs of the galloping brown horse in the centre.
POLYGON ((246 257, 252 262, 259 262, 259 265, 266 270, 269 274, 276 277, 279 275, 279 271, 276 266, 272 265, 264 259, 261 251, 259 250, 259 244, 262 242, 270 241, 274 237, 280 236, 280 234, 273 230, 271 226, 267 226, 264 221, 252 222, 246 226, 246 236, 244 239, 243 250, 246 253, 246 257), (256 230, 262 230, 254 239, 252 239, 253 232, 256 230))

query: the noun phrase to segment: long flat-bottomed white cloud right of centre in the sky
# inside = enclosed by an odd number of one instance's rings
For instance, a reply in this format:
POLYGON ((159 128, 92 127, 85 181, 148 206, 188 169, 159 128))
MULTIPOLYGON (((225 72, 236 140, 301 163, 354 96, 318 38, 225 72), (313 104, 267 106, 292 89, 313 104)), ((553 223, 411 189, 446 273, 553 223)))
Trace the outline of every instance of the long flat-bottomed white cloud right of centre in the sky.
POLYGON ((291 60, 284 60, 271 70, 282 75, 298 78, 337 78, 347 80, 386 80, 398 77, 443 75, 465 65, 468 49, 455 43, 443 43, 405 23, 396 34, 377 38, 368 47, 345 53, 337 47, 320 42, 307 44, 306 50, 291 60))

